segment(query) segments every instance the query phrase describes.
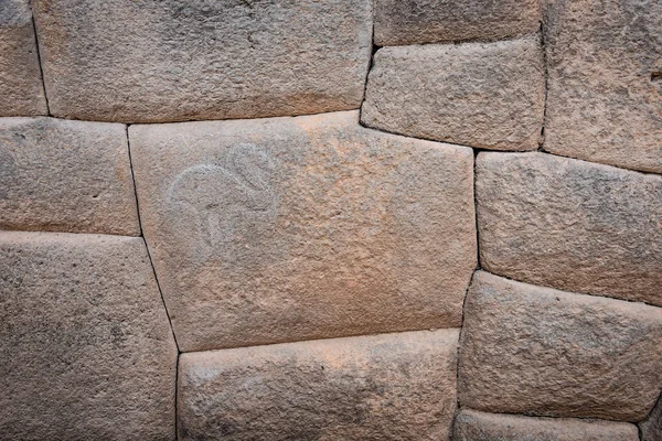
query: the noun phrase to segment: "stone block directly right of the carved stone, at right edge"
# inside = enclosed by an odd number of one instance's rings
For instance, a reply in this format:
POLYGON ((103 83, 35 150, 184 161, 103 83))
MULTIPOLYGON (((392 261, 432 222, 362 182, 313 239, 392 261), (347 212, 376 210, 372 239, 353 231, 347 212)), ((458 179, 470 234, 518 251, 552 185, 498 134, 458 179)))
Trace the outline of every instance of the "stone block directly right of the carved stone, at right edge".
POLYGON ((481 265, 662 305, 662 178, 544 153, 480 153, 481 265))

